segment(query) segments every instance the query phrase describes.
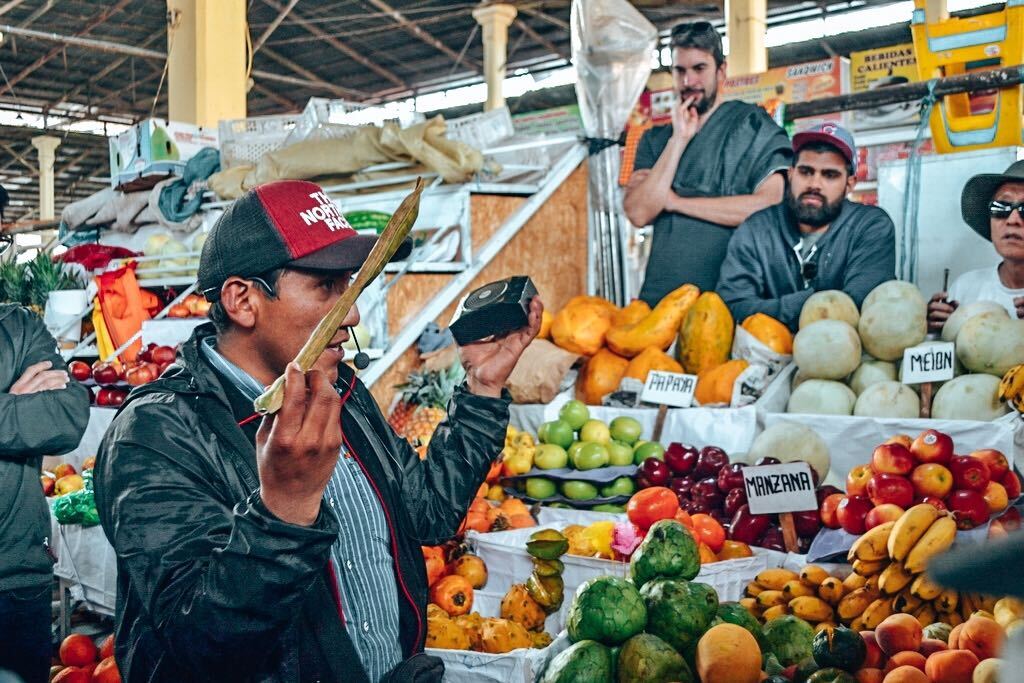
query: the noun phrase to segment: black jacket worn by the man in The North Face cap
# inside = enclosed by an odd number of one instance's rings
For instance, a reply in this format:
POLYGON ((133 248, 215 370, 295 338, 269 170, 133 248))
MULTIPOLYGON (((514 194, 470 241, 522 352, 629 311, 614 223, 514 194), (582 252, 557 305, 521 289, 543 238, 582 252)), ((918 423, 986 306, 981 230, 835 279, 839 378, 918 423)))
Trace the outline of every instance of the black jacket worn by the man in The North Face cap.
MULTIPOLYGON (((99 447, 96 506, 118 556, 116 654, 126 682, 365 681, 330 573, 338 536, 259 498, 251 404, 201 357, 197 330, 177 362, 132 392, 99 447)), ((451 538, 504 444, 508 401, 459 390, 421 461, 355 382, 345 438, 381 500, 398 580, 400 641, 422 651, 421 545, 451 538)), ((393 676, 393 680, 407 675, 393 676)))

